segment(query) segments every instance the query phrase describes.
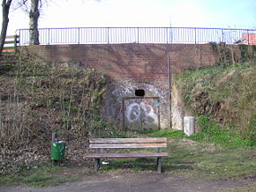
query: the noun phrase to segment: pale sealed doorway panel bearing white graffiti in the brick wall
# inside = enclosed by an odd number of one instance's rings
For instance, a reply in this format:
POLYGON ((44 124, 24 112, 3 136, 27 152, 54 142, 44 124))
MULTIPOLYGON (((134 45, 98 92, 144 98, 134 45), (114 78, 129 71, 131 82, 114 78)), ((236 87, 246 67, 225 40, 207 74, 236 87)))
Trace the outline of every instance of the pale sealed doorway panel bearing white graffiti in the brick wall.
POLYGON ((126 129, 159 129, 159 102, 154 99, 124 100, 126 129))

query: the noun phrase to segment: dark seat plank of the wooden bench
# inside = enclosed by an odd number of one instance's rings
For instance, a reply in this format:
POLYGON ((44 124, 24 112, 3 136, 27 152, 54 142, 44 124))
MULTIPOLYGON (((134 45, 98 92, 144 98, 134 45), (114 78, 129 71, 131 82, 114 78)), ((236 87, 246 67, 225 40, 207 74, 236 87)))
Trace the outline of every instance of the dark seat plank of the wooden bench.
POLYGON ((102 158, 166 158, 167 152, 159 153, 88 153, 88 159, 102 159, 102 158))

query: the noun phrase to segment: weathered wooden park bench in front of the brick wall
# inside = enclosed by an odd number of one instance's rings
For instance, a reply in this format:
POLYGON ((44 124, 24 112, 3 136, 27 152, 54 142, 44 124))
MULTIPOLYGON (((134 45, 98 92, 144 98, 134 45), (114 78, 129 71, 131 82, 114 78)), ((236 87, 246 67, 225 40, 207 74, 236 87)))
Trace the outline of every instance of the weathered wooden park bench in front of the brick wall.
POLYGON ((100 167, 100 159, 105 158, 156 158, 157 172, 162 171, 162 158, 168 157, 167 152, 161 152, 161 148, 167 147, 166 138, 91 138, 89 149, 95 149, 95 153, 87 153, 87 159, 94 159, 94 171, 100 167), (132 153, 102 153, 102 149, 145 149, 156 148, 156 152, 132 152, 132 153))

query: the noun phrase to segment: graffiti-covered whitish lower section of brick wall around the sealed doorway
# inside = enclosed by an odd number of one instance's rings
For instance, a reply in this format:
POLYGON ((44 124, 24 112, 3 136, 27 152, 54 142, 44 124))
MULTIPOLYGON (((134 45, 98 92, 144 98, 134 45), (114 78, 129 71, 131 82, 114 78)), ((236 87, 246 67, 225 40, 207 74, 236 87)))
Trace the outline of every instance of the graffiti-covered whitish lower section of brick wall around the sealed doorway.
POLYGON ((162 85, 155 82, 154 85, 130 80, 109 82, 103 118, 117 122, 117 126, 124 129, 168 129, 168 98, 168 89, 162 89, 162 85), (145 90, 146 97, 136 97, 138 89, 145 90))

